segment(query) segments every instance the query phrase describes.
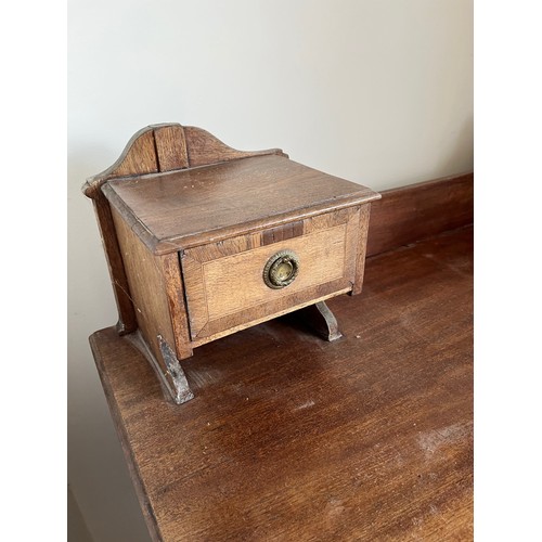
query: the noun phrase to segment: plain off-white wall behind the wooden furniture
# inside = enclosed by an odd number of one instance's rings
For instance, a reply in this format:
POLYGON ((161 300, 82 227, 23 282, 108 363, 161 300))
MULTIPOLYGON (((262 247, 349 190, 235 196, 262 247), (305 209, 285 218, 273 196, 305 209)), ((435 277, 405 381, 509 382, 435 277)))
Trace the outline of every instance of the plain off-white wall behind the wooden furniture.
POLYGON ((88 346, 116 311, 85 179, 138 129, 375 190, 473 169, 472 0, 70 0, 68 480, 96 542, 147 540, 88 346))

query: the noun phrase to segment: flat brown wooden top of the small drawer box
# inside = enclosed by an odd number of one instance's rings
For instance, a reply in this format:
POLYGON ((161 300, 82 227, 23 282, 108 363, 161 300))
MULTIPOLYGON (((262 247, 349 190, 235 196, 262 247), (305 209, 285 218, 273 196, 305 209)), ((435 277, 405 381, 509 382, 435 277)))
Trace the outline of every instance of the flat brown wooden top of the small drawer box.
POLYGON ((102 191, 155 254, 380 197, 280 155, 112 179, 102 191))

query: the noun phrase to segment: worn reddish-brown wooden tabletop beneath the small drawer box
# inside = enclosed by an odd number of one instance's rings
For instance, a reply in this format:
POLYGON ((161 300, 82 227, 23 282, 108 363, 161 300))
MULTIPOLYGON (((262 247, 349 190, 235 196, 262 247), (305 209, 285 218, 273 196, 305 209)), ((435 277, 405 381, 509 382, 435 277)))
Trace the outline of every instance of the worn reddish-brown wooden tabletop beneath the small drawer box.
POLYGON ((197 349, 177 406, 129 337, 91 346, 153 540, 473 539, 473 230, 373 258, 328 301, 197 349))

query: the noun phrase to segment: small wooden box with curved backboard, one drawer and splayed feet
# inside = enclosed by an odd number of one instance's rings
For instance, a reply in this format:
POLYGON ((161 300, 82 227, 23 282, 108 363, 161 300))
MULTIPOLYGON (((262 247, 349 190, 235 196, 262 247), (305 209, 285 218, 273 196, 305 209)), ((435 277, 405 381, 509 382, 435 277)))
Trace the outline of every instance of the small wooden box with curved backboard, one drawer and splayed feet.
POLYGON ((372 190, 281 150, 235 151, 181 125, 140 130, 87 181, 119 309, 177 403, 195 347, 361 292, 372 190))

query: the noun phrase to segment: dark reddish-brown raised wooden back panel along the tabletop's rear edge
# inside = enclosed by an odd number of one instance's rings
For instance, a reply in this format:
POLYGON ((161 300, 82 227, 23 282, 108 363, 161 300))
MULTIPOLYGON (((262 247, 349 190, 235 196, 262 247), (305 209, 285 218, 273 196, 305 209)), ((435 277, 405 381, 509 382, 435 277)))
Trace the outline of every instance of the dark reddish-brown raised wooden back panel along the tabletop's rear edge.
POLYGON ((474 221, 474 173, 382 192, 371 205, 367 256, 474 221))

